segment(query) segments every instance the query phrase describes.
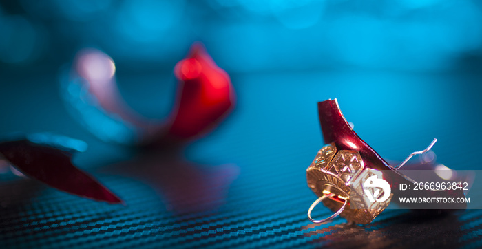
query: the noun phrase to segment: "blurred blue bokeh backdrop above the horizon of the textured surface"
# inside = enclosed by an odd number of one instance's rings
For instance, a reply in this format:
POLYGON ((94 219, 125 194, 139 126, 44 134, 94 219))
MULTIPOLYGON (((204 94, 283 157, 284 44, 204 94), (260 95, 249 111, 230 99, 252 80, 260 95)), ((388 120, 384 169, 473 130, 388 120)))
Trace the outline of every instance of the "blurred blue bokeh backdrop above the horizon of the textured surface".
POLYGON ((472 0, 9 1, 0 61, 54 64, 96 46, 116 63, 154 69, 199 40, 230 72, 458 69, 480 61, 481 8, 472 0))

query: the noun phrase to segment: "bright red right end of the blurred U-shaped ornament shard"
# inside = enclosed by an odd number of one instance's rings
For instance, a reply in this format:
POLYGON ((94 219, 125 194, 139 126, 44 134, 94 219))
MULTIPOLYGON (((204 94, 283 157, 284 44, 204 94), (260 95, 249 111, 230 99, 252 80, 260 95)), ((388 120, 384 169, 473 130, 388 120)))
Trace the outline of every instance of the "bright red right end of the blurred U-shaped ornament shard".
POLYGON ((233 108, 235 93, 229 75, 199 43, 176 65, 174 74, 179 94, 171 113, 171 135, 185 139, 205 134, 233 108))

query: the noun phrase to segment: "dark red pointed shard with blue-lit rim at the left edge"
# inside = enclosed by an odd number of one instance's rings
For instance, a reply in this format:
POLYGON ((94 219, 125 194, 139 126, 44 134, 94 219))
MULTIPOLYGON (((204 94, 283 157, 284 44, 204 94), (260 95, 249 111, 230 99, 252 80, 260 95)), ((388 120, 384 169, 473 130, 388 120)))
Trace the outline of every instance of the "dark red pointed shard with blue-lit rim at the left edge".
POLYGON ((87 144, 81 140, 51 133, 15 134, 0 142, 0 160, 26 177, 60 191, 110 204, 123 203, 94 177, 72 164, 72 155, 85 149, 87 144))

